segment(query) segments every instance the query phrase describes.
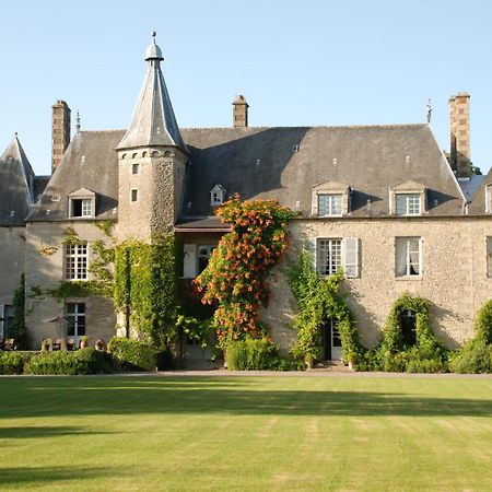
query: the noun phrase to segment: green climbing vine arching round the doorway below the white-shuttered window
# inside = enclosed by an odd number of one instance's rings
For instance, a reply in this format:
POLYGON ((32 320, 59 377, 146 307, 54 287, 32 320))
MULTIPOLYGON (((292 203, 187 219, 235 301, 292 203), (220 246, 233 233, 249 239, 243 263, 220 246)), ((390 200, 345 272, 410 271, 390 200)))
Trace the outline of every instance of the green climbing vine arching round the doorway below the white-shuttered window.
POLYGON ((342 272, 321 278, 313 269, 312 258, 306 251, 301 253, 297 265, 291 269, 289 281, 298 306, 293 321, 297 340, 291 350, 295 359, 308 364, 320 359, 321 326, 332 318, 338 321, 343 359, 350 362, 356 360, 361 345, 353 317, 339 292, 342 279, 342 272))

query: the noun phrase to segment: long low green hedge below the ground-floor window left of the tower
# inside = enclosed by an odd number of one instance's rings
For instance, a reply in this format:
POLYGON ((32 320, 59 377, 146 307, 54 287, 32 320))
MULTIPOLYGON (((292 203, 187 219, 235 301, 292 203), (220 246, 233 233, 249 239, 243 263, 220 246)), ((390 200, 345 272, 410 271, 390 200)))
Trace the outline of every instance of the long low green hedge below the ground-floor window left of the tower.
POLYGON ((25 365, 25 374, 101 374, 110 373, 110 358, 94 349, 74 352, 39 352, 25 365))

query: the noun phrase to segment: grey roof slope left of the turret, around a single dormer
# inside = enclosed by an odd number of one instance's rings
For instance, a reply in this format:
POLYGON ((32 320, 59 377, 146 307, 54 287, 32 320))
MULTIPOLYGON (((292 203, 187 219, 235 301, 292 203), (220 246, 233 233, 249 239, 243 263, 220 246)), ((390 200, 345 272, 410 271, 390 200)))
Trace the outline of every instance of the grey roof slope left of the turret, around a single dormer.
POLYGON ((118 204, 115 147, 124 133, 125 130, 77 133, 27 220, 67 220, 68 195, 80 188, 96 194, 96 219, 115 219, 114 208, 118 204))

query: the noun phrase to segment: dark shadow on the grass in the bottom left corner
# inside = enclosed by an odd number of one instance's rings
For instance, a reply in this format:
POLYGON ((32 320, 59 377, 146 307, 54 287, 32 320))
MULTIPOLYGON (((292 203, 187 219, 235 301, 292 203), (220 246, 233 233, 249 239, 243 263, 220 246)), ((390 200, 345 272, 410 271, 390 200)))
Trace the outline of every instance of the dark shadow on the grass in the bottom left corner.
POLYGON ((0 484, 20 484, 25 482, 39 482, 47 485, 49 482, 82 480, 112 476, 115 471, 105 468, 86 467, 39 467, 39 468, 0 468, 0 484))

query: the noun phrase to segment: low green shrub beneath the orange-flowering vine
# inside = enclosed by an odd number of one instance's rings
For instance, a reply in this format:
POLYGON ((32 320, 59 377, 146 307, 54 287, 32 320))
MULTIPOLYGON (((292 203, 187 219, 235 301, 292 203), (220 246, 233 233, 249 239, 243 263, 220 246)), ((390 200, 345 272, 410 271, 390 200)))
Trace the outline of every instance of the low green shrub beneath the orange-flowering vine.
POLYGON ((279 347, 266 338, 246 338, 231 342, 226 352, 232 371, 289 371, 293 363, 280 355, 279 347))

